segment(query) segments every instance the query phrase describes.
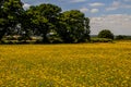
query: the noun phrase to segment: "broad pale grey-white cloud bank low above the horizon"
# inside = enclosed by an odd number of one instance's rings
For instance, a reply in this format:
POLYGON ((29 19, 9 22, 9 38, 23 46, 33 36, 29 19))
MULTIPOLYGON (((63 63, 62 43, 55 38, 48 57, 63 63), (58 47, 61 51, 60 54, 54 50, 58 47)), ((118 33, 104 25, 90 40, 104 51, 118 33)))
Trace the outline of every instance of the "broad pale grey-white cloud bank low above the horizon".
POLYGON ((102 29, 110 29, 115 35, 131 34, 131 15, 111 14, 91 18, 92 35, 97 35, 102 29))

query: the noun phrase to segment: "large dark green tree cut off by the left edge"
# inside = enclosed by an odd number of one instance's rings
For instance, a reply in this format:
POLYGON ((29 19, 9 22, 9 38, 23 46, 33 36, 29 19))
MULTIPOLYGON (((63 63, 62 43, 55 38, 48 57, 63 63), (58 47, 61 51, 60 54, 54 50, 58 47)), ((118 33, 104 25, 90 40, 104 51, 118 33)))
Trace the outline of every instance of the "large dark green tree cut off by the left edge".
POLYGON ((17 25, 22 10, 21 0, 0 1, 0 40, 17 25))

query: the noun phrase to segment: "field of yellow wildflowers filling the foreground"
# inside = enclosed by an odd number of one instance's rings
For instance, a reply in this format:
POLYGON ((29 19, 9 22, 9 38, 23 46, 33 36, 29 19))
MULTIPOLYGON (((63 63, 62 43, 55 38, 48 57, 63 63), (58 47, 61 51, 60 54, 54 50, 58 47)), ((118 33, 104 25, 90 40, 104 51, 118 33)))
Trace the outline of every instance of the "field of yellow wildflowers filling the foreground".
POLYGON ((0 87, 131 87, 131 41, 1 45, 0 87))

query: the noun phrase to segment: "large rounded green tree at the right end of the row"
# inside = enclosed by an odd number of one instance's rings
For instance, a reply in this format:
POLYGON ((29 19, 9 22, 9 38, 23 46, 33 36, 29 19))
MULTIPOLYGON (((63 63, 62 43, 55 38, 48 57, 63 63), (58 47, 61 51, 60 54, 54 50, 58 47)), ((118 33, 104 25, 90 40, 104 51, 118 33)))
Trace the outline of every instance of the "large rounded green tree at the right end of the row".
POLYGON ((90 34, 90 20, 78 10, 66 11, 60 15, 58 34, 64 42, 78 42, 90 34))

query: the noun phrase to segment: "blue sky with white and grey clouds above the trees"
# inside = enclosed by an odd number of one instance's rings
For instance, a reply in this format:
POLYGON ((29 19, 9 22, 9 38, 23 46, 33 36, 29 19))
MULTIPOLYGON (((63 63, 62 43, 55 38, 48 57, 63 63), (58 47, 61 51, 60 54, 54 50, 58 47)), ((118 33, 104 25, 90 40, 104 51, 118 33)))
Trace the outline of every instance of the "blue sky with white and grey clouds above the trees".
POLYGON ((22 0, 24 8, 52 3, 62 11, 80 10, 90 17, 91 35, 109 29, 115 35, 131 35, 131 0, 22 0))

